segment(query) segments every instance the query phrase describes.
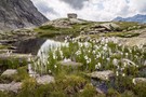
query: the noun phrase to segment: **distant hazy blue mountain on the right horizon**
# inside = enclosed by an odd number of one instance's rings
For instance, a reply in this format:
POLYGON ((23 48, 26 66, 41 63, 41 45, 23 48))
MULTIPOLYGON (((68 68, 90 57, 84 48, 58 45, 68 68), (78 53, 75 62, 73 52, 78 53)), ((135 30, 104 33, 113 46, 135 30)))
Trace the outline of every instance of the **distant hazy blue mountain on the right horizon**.
POLYGON ((134 15, 132 17, 128 18, 122 18, 122 17, 117 17, 114 19, 114 22, 137 22, 137 23, 146 23, 146 15, 134 15))

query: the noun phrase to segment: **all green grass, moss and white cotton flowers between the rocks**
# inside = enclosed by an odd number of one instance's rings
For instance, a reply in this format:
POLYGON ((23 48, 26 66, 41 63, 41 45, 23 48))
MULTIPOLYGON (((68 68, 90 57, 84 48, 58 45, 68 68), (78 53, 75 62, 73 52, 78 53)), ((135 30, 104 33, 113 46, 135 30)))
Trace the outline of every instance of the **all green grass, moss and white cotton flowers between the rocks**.
MULTIPOLYGON (((35 31, 41 38, 77 37, 81 30, 87 30, 95 24, 92 22, 71 24, 70 28, 45 25, 36 28, 35 31)), ((91 34, 94 39, 88 36, 83 40, 65 40, 66 43, 62 46, 53 47, 48 52, 49 57, 45 64, 39 59, 40 63, 35 61, 32 69, 39 74, 51 74, 55 78, 55 82, 50 84, 38 84, 36 79, 30 78, 26 60, 0 59, 0 73, 5 69, 17 69, 17 73, 12 77, 0 77, 0 83, 23 82, 23 87, 17 93, 0 92, 0 97, 145 97, 146 83, 133 84, 133 79, 146 78, 145 71, 141 71, 142 68, 145 68, 146 50, 143 45, 124 46, 118 43, 116 38, 109 38, 137 37, 140 32, 130 30, 142 29, 145 26, 124 22, 115 24, 120 28, 107 33, 91 34), (106 38, 99 38, 101 36, 106 38), (61 65, 61 61, 65 59, 80 63, 82 66, 61 65), (104 70, 114 71, 115 78, 109 81, 94 79, 98 84, 106 85, 107 92, 102 94, 96 89, 98 86, 92 85, 93 82, 87 73, 104 70)), ((6 46, 0 45, 0 48, 6 48, 6 46)))

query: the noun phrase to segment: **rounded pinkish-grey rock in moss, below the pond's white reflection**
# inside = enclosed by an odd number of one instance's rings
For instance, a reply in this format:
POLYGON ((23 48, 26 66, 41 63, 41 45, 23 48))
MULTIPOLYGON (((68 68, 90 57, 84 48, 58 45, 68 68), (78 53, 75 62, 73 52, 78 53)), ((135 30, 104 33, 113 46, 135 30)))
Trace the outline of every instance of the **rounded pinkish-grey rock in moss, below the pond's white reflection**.
POLYGON ((36 80, 39 84, 49 84, 51 82, 55 82, 54 78, 51 75, 38 77, 36 80))

